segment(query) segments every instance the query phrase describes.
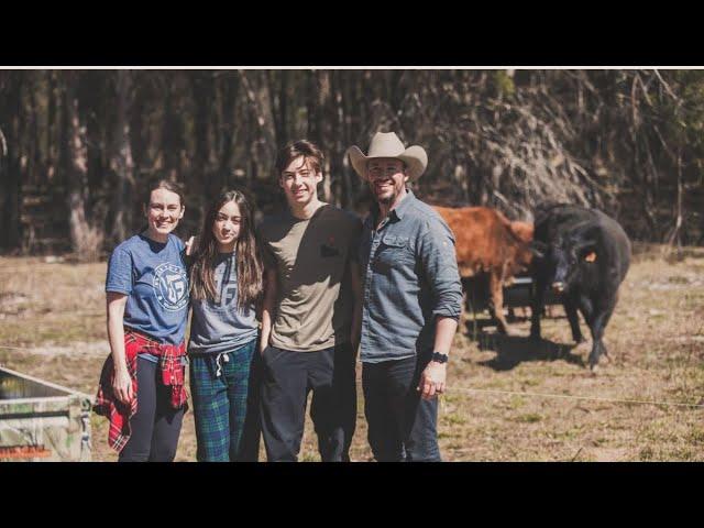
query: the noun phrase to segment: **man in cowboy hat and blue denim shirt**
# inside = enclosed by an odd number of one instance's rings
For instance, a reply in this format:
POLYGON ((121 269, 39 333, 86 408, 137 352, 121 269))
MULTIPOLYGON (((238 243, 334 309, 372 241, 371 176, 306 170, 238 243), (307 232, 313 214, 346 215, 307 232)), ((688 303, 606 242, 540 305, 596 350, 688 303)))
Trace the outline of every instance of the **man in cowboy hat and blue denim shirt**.
POLYGON ((369 155, 358 146, 348 155, 376 201, 360 243, 369 441, 377 461, 440 461, 437 395, 462 302, 454 238, 406 187, 428 165, 422 147, 378 132, 369 155))

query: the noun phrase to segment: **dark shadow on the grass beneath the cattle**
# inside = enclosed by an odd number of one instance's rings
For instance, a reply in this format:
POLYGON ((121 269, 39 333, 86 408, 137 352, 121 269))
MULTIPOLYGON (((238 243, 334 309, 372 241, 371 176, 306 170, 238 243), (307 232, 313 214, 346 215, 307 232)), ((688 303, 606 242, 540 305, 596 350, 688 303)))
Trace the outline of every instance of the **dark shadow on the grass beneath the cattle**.
MULTIPOLYGON (((472 336, 473 323, 469 321, 466 326, 469 334, 472 336)), ((503 336, 496 332, 490 333, 483 329, 476 334, 476 342, 480 350, 496 352, 495 358, 480 361, 479 364, 497 372, 510 371, 526 361, 565 361, 585 367, 584 360, 572 353, 576 344, 560 344, 547 339, 521 336, 503 336)))

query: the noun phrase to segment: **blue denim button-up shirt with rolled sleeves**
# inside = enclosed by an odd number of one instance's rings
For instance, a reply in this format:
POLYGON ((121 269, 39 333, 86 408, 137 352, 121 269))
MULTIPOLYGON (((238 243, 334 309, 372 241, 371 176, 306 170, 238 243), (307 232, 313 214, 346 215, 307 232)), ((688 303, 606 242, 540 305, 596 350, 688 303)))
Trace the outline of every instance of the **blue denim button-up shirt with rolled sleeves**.
POLYGON ((462 284, 452 231, 430 206, 408 195, 375 229, 364 222, 361 360, 378 363, 432 352, 436 318, 460 318, 462 284))

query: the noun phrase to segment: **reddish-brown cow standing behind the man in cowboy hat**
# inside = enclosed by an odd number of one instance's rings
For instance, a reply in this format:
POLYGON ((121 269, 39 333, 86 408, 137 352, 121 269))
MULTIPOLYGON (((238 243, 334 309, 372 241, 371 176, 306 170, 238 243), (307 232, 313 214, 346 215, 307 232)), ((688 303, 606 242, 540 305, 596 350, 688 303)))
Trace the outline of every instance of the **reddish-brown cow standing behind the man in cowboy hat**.
POLYGON ((508 333, 503 288, 514 275, 526 271, 530 264, 532 224, 512 222, 488 207, 433 207, 454 233, 462 278, 483 272, 488 274, 491 306, 498 321, 497 330, 508 333))

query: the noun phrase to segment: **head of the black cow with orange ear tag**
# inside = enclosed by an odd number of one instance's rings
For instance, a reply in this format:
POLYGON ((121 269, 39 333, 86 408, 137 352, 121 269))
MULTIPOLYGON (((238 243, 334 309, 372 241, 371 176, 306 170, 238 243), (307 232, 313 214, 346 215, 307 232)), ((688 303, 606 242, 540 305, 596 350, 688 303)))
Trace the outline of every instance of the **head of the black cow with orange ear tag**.
POLYGON ((573 289, 581 280, 581 271, 598 258, 591 227, 558 235, 550 244, 534 241, 531 251, 549 270, 550 285, 558 294, 573 289))

